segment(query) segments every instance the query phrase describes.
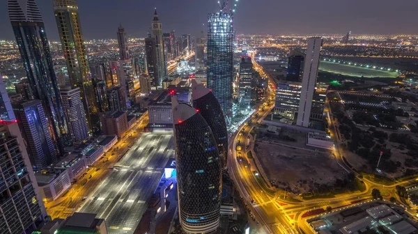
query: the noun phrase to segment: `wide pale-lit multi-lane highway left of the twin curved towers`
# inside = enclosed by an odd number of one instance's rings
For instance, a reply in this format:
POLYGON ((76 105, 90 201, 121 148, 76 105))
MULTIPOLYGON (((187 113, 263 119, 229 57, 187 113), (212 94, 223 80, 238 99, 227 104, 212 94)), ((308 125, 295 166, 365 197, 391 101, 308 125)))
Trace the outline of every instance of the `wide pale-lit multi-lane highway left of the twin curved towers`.
POLYGON ((108 233, 133 233, 174 157, 172 133, 144 133, 78 211, 105 219, 108 233))

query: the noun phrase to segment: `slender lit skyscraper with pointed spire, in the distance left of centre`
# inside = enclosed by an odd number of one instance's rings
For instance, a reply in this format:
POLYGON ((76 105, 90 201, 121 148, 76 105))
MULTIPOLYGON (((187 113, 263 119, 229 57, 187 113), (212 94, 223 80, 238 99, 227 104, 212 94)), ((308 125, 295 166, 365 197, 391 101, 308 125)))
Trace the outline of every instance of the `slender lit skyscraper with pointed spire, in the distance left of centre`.
POLYGON ((157 49, 157 86, 162 86, 162 81, 167 76, 167 62, 164 58, 164 45, 162 43, 162 24, 158 19, 157 9, 154 12, 154 19, 151 25, 153 27, 153 38, 155 38, 155 48, 157 49))

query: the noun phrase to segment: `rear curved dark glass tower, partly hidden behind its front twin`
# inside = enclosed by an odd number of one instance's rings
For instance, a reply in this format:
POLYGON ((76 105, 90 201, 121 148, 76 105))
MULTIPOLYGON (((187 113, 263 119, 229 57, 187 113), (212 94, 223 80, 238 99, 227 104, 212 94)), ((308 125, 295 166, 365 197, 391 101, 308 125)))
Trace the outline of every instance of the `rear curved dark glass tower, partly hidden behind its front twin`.
POLYGON ((192 99, 193 107, 199 111, 212 129, 221 156, 222 167, 226 167, 228 131, 226 130, 225 117, 221 106, 215 95, 207 87, 197 84, 194 80, 192 81, 192 99))

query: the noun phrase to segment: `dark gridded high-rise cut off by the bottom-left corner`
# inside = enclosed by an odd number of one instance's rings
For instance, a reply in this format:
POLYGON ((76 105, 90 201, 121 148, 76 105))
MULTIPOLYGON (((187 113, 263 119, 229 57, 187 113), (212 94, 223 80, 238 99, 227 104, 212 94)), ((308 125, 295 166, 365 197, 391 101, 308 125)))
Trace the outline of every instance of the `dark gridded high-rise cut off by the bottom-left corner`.
POLYGON ((31 233, 47 212, 19 126, 1 122, 0 132, 0 233, 31 233))

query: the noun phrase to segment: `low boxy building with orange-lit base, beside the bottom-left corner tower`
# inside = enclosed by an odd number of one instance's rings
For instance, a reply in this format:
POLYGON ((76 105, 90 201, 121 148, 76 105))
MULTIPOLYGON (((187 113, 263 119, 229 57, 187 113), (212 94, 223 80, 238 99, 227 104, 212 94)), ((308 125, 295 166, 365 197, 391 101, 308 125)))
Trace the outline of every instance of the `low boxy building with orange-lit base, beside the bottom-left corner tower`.
POLYGON ((54 201, 71 186, 68 170, 44 169, 35 173, 40 194, 44 201, 54 201))

